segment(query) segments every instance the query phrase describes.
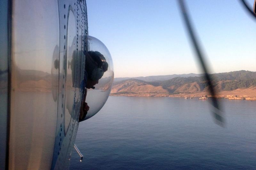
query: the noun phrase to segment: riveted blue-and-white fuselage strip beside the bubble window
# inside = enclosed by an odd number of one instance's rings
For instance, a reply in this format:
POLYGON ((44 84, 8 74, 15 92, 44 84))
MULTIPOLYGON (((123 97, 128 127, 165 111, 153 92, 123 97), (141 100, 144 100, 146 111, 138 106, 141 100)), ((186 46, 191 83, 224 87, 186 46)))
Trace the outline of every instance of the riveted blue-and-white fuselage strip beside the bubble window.
MULTIPOLYGON (((79 3, 79 1, 58 1, 60 79, 57 129, 51 169, 68 169, 78 129, 82 98, 80 83, 84 78, 84 43, 87 35, 87 18, 83 14, 86 13, 86 8, 82 10, 79 3)), ((81 3, 85 4, 83 1, 81 3)))

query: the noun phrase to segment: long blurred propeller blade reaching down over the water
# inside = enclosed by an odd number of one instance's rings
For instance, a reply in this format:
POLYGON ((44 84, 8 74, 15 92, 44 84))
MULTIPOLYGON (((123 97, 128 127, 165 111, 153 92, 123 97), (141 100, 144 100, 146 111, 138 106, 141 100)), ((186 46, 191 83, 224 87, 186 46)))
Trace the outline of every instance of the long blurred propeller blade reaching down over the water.
POLYGON ((204 64, 204 57, 203 57, 203 54, 201 53, 201 50, 200 50, 200 47, 197 43, 197 39, 196 39, 196 36, 194 34, 194 31, 192 29, 192 26, 191 26, 191 23, 190 23, 190 20, 188 18, 188 14, 187 14, 187 10, 186 10, 186 7, 185 7, 185 3, 183 0, 178 0, 179 4, 180 4, 180 10, 182 12, 182 16, 183 16, 183 19, 184 19, 184 22, 187 26, 187 29, 188 29, 188 33, 190 35, 190 38, 192 40, 192 43, 194 45, 194 49, 196 50, 196 53, 197 53, 197 57, 198 59, 200 60, 200 63, 201 63, 201 66, 204 70, 204 76, 206 78, 206 81, 207 81, 207 85, 208 85, 208 88, 209 88, 209 92, 211 93, 212 97, 212 105, 213 107, 215 108, 213 110, 213 117, 215 118, 216 123, 219 124, 220 126, 223 126, 224 125, 224 118, 222 116, 222 112, 220 111, 220 104, 216 98, 216 94, 215 94, 215 91, 213 89, 213 84, 212 84, 212 81, 211 81, 211 77, 210 75, 208 74, 208 70, 204 64))

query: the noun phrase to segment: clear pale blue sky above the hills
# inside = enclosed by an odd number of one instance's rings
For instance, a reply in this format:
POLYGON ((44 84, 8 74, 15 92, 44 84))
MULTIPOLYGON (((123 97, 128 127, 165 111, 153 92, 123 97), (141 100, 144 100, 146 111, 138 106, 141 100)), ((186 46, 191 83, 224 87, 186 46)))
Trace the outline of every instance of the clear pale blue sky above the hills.
MULTIPOLYGON (((256 71, 256 21, 239 1, 185 2, 211 73, 256 71)), ((115 77, 202 73, 176 1, 86 3, 89 35, 108 47, 115 77)))

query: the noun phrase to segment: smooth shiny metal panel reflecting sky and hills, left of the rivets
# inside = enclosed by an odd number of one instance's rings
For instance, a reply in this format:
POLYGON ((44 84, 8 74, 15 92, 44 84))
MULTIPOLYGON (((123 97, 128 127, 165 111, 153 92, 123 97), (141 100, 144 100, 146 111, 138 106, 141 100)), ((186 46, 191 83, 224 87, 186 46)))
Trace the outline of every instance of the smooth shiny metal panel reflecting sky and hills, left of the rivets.
POLYGON ((13 1, 9 169, 50 169, 57 122, 57 1, 13 1))

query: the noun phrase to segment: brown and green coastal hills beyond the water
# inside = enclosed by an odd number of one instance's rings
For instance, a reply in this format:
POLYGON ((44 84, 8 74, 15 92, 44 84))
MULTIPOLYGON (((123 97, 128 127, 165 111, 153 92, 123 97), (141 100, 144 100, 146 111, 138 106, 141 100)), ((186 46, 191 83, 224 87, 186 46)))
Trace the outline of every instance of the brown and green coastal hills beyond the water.
MULTIPOLYGON (((210 74, 215 91, 232 91, 236 89, 248 89, 256 86, 256 72, 233 71, 227 73, 210 74)), ((113 83, 111 95, 133 96, 159 96, 193 94, 205 92, 207 94, 207 81, 204 76, 174 77, 164 81, 143 81, 128 79, 113 83)), ((250 89, 251 90, 251 89, 250 89)), ((252 96, 256 96, 252 90, 252 96)))

